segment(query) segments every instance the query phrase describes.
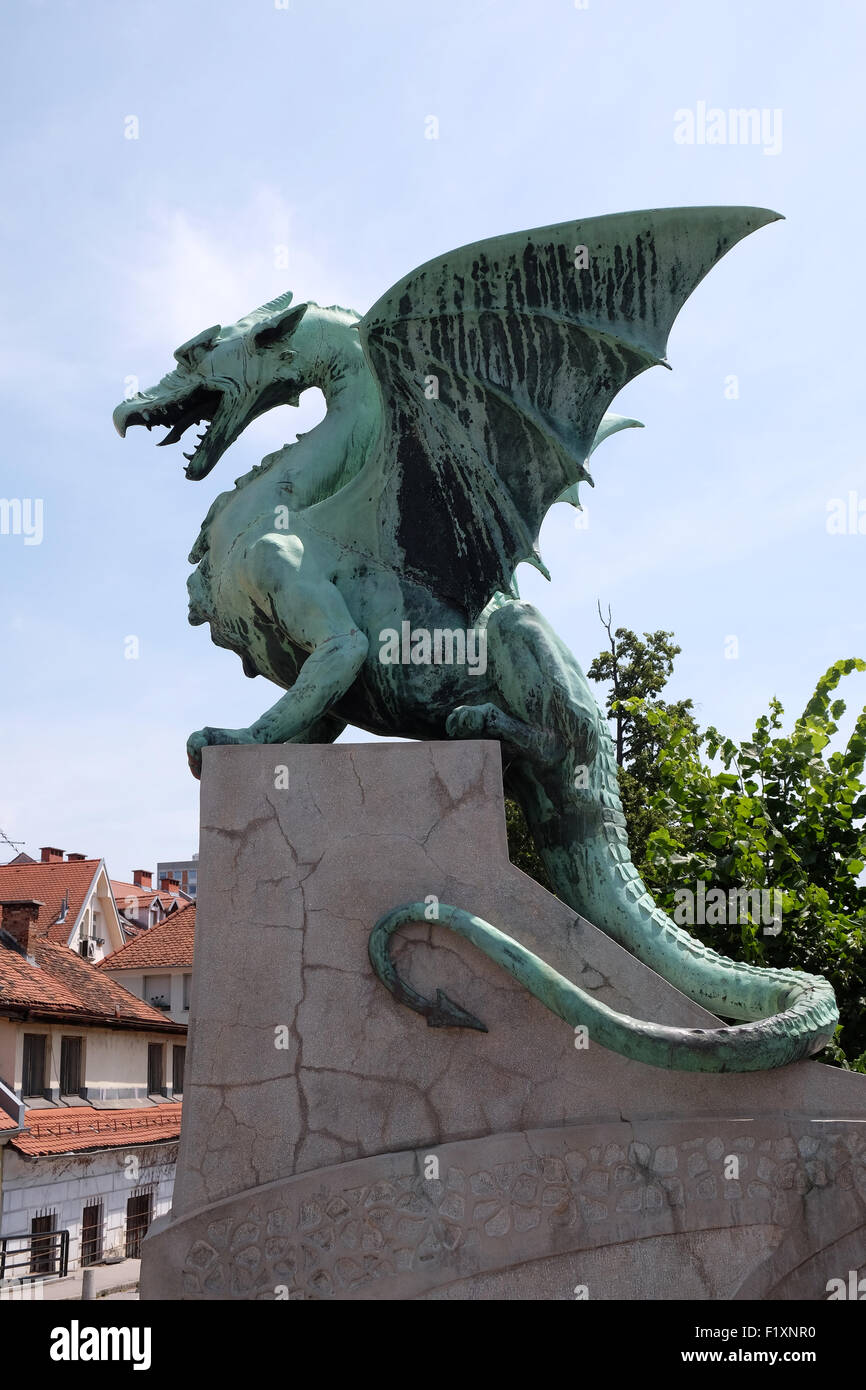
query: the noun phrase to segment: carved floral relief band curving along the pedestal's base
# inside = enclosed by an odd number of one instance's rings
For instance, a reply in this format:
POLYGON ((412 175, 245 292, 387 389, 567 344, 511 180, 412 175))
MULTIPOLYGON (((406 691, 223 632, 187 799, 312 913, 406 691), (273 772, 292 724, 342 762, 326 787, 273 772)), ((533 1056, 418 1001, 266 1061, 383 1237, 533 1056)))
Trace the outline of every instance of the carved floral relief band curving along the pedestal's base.
POLYGON ((445 1151, 439 1179, 414 1172, 352 1186, 357 1166, 331 1170, 314 1195, 300 1182, 277 1184, 271 1200, 253 1193, 225 1204, 227 1213, 188 1250, 183 1297, 368 1297, 373 1283, 402 1276, 435 1287, 520 1264, 527 1247, 605 1244, 623 1215, 641 1220, 646 1234, 699 1230, 709 1207, 710 1223, 719 1220, 717 1200, 727 1204, 726 1225, 784 1227, 803 1197, 833 1184, 856 1191, 866 1207, 866 1138, 858 1127, 826 1137, 609 1141, 475 1169, 449 1162, 445 1151), (730 1156, 738 1180, 724 1177, 730 1156))

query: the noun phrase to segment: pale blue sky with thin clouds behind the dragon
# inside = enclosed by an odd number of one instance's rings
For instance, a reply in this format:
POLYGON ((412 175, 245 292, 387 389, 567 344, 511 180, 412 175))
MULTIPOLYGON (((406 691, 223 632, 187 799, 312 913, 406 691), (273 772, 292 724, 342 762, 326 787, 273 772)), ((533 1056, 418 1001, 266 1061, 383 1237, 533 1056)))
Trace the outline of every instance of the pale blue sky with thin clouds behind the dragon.
MULTIPOLYGON (((275 695, 188 627, 186 555, 213 496, 318 407, 257 421, 193 484, 179 449, 114 434, 125 378, 150 385, 179 342, 285 289, 363 311, 431 256, 567 218, 748 203, 787 221, 698 289, 673 373, 619 398, 646 430, 595 456, 587 530, 553 509, 553 582, 524 567, 523 592, 584 666, 596 598, 617 623, 671 628, 673 694, 734 735, 771 694, 799 712, 830 662, 863 655, 866 535, 826 531, 830 499, 866 503, 863 15, 860 0, 7 7, 0 496, 43 499, 44 537, 0 535, 0 826, 31 852, 106 855, 115 877, 183 856, 186 735, 247 724, 275 695), (780 152, 677 143, 674 113, 701 101, 780 111, 780 152)), ((863 703, 866 677, 847 692, 863 703)))

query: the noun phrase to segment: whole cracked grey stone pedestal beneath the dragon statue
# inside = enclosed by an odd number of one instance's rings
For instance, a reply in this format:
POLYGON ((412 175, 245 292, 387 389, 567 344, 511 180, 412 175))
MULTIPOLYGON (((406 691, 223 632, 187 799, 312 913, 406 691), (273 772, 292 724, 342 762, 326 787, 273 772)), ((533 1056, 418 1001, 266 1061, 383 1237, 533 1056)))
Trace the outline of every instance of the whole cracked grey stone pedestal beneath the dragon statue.
POLYGON ((509 862, 496 744, 206 749, 199 883, 142 1298, 819 1300, 866 1273, 865 1077, 575 1048, 434 923, 395 938, 400 974, 488 1033, 375 979, 377 919, 435 895, 624 1013, 709 1020, 509 862))

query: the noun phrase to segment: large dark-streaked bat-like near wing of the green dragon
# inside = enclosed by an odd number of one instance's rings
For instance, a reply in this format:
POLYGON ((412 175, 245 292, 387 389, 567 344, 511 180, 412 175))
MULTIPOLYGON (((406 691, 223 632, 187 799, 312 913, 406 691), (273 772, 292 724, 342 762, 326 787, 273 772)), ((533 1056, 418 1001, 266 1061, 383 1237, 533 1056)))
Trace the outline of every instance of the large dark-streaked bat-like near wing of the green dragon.
MULTIPOLYGON (((384 424, 378 545, 474 620, 507 591, 562 495, 575 498, 623 386, 758 207, 594 217, 461 246, 399 281, 359 332, 384 424)), ((367 470, 364 470, 367 473, 367 470)))

